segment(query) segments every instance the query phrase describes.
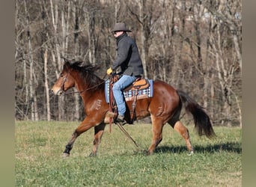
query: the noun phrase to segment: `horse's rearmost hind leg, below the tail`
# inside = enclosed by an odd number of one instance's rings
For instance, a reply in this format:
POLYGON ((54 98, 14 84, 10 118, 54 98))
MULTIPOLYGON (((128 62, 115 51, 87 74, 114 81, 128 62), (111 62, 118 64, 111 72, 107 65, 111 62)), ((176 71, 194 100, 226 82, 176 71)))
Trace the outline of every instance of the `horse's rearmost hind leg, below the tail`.
POLYGON ((184 138, 186 141, 186 147, 189 150, 189 154, 193 154, 194 150, 189 138, 189 130, 186 128, 186 126, 183 125, 183 123, 180 122, 180 120, 177 120, 176 123, 170 123, 171 126, 180 133, 180 135, 184 138))

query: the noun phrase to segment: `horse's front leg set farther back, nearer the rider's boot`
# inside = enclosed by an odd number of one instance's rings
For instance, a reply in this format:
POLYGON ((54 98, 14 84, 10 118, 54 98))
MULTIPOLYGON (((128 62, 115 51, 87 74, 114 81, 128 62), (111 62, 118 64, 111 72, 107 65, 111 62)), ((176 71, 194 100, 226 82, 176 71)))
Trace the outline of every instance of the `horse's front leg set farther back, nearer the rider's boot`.
POLYGON ((101 138, 103 137, 105 126, 105 123, 100 123, 100 125, 94 126, 94 146, 90 156, 97 156, 97 150, 100 145, 101 138))

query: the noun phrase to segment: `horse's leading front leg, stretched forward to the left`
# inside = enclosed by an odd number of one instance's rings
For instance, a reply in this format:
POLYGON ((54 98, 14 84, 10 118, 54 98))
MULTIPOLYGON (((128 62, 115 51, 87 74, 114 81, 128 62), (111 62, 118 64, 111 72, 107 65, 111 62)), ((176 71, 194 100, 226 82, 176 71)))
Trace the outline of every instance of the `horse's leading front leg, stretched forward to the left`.
POLYGON ((91 123, 89 117, 86 117, 85 120, 76 128, 76 130, 73 132, 73 135, 70 139, 70 141, 67 143, 66 148, 63 152, 63 157, 70 156, 70 150, 73 148, 73 144, 76 141, 76 138, 79 137, 83 132, 86 132, 88 129, 91 129, 92 126, 95 126, 95 123, 91 123))

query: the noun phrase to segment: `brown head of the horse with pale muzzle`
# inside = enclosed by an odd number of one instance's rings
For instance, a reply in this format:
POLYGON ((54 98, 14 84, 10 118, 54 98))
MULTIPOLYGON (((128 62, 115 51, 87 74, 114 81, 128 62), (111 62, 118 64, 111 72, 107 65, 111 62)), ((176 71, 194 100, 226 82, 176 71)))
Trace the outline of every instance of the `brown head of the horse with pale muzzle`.
POLYGON ((75 86, 75 80, 70 75, 71 67, 70 63, 66 61, 61 72, 61 76, 57 79, 55 84, 52 86, 52 92, 55 95, 61 95, 64 91, 67 91, 70 88, 75 86))

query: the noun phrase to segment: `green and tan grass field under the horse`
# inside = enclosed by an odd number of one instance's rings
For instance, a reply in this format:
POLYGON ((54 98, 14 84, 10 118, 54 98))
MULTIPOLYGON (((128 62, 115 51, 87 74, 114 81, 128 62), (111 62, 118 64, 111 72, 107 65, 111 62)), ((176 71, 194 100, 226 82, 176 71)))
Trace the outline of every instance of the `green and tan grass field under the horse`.
POLYGON ((16 121, 16 186, 242 186, 242 129, 214 126, 217 138, 198 137, 188 126, 195 154, 171 126, 152 156, 150 124, 124 126, 139 148, 109 126, 97 157, 91 153, 94 129, 82 134, 70 157, 61 154, 79 123, 16 121))

